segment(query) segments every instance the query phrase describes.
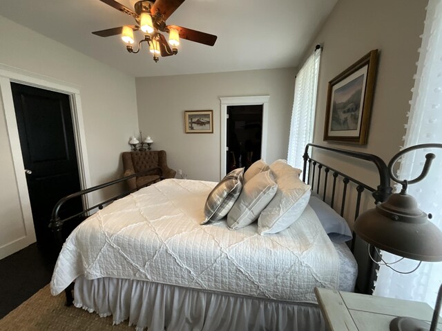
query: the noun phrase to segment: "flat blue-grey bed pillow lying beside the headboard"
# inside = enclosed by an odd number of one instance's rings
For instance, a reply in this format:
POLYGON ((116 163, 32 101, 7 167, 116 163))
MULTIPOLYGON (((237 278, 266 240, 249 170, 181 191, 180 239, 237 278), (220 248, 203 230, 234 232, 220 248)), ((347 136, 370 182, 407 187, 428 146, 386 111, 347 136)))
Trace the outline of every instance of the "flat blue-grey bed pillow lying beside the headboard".
POLYGON ((319 199, 314 192, 311 193, 309 205, 314 210, 325 232, 334 243, 343 243, 352 240, 352 230, 347 221, 340 217, 327 203, 319 199))

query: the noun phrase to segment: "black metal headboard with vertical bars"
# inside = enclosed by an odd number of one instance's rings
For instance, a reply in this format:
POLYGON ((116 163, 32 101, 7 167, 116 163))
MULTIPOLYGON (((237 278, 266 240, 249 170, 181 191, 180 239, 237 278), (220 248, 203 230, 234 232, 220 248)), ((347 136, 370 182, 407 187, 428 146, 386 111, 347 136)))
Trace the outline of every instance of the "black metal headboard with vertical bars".
MULTIPOLYGON (((336 183, 338 179, 342 179, 343 181, 343 190, 340 196, 340 210, 337 210, 340 213, 340 216, 344 216, 345 213, 345 203, 347 200, 348 189, 352 188, 356 185, 356 207, 354 211, 354 219, 356 219, 359 215, 361 209, 361 197, 365 190, 371 192, 372 197, 374 198, 374 203, 383 202, 387 197, 392 193, 392 188, 390 187, 390 175, 388 172, 387 165, 385 162, 374 154, 367 154, 363 152, 354 152, 352 150, 343 150, 340 148, 331 148, 327 146, 320 146, 314 143, 308 143, 305 146, 305 152, 303 155, 304 159, 304 167, 302 171, 302 181, 311 185, 311 190, 320 194, 322 192, 322 199, 326 201, 327 197, 327 184, 329 183, 329 173, 332 174, 332 192, 331 198, 329 201, 329 205, 334 208, 336 202, 336 183), (379 174, 379 185, 377 188, 372 188, 369 185, 350 177, 343 172, 335 170, 328 165, 325 165, 316 159, 312 159, 309 157, 309 149, 320 149, 327 150, 332 153, 338 153, 346 155, 347 157, 352 157, 355 159, 361 159, 368 161, 370 163, 374 163, 378 170, 379 174), (308 175, 307 175, 308 174, 308 175), (307 177, 307 178, 306 178, 307 177), (323 180, 321 181, 321 178, 323 180), (350 185, 349 183, 354 183, 354 185, 350 185), (322 188, 322 190, 321 190, 322 188)), ((338 206, 336 207, 337 209, 338 206)), ((374 263, 372 259, 369 258, 367 254, 367 250, 362 250, 363 254, 361 257, 356 256, 356 245, 366 245, 362 239, 357 238, 356 234, 353 232, 353 240, 349 244, 350 250, 354 254, 356 261, 358 261, 358 279, 356 281, 356 292, 361 292, 365 294, 372 294, 374 290, 374 282, 376 281, 378 264, 374 263)), ((370 248, 372 257, 379 261, 378 254, 374 247, 370 248)))

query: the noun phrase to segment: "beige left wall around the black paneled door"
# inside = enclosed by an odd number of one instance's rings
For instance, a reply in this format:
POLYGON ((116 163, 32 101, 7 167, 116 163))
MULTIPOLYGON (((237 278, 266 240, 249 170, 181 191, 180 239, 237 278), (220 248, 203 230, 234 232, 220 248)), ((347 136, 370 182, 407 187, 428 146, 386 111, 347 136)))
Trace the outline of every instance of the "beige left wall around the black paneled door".
MULTIPOLYGON (((0 16, 0 63, 80 90, 93 184, 121 174, 120 153, 138 128, 135 79, 0 16)), ((23 234, 12 154, 0 105, 0 248, 23 234), (8 235, 6 235, 8 230, 8 235)), ((19 148, 19 146, 15 146, 19 148)))

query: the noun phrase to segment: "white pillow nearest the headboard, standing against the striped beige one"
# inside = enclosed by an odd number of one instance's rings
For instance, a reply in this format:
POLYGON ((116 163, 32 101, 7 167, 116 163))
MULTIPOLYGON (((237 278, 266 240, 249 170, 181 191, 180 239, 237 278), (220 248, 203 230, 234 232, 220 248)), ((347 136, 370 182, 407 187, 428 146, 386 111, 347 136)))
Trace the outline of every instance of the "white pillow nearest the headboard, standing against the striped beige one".
POLYGON ((278 190, 258 218, 259 234, 277 233, 288 228, 300 217, 310 198, 310 185, 299 179, 299 169, 284 160, 273 162, 270 169, 278 190))

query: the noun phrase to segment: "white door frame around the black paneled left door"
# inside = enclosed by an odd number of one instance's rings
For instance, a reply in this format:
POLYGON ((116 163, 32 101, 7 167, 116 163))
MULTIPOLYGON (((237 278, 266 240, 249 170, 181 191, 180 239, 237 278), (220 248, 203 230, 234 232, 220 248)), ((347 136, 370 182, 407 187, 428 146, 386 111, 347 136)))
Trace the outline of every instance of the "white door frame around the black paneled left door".
MULTIPOLYGON (((1 106, 3 106, 12 154, 12 163, 15 170, 15 179, 17 181, 17 189, 19 191, 19 203, 21 206, 25 233, 24 237, 12 239, 10 243, 0 246, 0 259, 17 252, 18 250, 21 250, 22 248, 25 248, 36 241, 34 222, 30 208, 28 184, 26 182, 23 156, 21 154, 19 130, 17 127, 17 119, 15 117, 14 100, 12 99, 11 82, 68 94, 74 128, 75 150, 77 152, 80 187, 81 190, 90 187, 89 161, 86 149, 86 135, 84 132, 83 110, 81 108, 79 88, 64 81, 52 79, 40 74, 34 74, 26 70, 6 66, 0 63, 0 109, 2 108, 1 106)), ((90 204, 88 197, 83 200, 83 203, 85 208, 87 208, 90 204)))

